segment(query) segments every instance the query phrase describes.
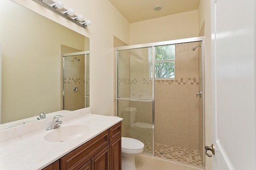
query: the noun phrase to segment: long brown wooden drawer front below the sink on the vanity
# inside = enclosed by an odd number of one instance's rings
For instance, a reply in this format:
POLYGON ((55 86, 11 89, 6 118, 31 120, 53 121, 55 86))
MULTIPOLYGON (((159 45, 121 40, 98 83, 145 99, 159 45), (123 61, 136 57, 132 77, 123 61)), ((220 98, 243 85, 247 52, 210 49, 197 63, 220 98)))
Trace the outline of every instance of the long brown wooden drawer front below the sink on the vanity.
POLYGON ((60 158, 62 170, 79 169, 109 143, 108 130, 60 158))

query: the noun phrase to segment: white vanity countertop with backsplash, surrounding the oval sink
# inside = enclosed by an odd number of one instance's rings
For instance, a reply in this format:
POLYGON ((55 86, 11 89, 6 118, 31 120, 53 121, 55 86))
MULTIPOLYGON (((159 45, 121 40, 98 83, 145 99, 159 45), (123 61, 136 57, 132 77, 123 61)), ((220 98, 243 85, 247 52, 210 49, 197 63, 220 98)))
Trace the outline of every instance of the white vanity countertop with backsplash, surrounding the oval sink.
POLYGON ((0 169, 40 170, 122 121, 119 117, 89 112, 90 109, 81 109, 63 114, 64 117, 60 118, 63 123, 58 128, 77 124, 90 127, 86 135, 70 141, 44 140, 46 134, 56 130, 45 130, 51 124, 52 118, 0 131, 0 169))

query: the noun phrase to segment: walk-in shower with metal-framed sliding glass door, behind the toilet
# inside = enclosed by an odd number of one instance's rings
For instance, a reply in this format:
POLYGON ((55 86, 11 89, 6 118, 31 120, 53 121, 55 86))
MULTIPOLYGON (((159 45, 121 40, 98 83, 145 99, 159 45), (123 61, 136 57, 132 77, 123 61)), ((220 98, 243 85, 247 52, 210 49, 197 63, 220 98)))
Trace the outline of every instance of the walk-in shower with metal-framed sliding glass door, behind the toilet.
POLYGON ((144 154, 203 166, 204 37, 115 48, 122 136, 144 154))

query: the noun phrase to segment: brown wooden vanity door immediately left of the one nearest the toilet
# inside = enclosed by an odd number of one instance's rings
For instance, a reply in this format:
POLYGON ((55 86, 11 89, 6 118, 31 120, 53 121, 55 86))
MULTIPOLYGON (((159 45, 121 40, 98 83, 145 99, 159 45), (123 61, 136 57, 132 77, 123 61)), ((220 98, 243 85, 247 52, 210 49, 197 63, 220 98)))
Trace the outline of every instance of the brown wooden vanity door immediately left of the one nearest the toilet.
POLYGON ((92 170, 110 170, 109 145, 92 158, 92 170))

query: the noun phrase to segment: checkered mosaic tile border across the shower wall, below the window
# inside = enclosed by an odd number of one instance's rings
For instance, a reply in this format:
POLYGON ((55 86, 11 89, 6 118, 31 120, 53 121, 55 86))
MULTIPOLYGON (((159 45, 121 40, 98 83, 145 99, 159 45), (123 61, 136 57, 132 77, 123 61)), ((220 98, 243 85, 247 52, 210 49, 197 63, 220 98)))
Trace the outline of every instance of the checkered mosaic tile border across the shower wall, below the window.
MULTIPOLYGON (((152 84, 152 80, 148 78, 118 78, 119 85, 130 84, 152 84)), ((177 80, 156 80, 156 84, 180 84, 180 85, 198 85, 202 84, 202 77, 200 78, 178 78, 177 80)))

